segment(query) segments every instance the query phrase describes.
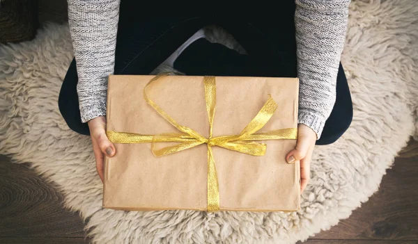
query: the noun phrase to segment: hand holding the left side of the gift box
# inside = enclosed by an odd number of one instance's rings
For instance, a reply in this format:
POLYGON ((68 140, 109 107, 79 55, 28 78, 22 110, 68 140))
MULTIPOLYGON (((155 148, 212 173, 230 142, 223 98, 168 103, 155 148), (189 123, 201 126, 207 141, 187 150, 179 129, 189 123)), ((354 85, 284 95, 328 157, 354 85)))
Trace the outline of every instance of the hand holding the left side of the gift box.
POLYGON ((90 130, 91 142, 93 143, 93 152, 96 160, 96 169, 100 179, 103 182, 103 162, 104 154, 114 156, 115 146, 110 142, 106 135, 106 117, 99 116, 87 122, 90 130))

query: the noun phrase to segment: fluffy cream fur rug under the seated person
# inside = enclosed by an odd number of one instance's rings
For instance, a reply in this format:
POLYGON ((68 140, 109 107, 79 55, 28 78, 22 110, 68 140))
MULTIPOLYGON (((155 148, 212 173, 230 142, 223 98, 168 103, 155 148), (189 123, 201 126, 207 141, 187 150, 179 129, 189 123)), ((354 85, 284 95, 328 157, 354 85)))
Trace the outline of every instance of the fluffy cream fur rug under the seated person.
MULTIPOLYGON (((311 181, 294 213, 113 211, 88 136, 65 124, 57 104, 72 60, 67 25, 0 46, 0 154, 30 162, 79 211, 94 243, 295 243, 348 218, 366 202, 410 136, 417 136, 418 5, 353 1, 342 63, 353 96, 351 127, 317 146, 311 181)), ((212 40, 229 42, 212 30, 212 40)), ((235 44, 230 44, 233 47, 235 44)))

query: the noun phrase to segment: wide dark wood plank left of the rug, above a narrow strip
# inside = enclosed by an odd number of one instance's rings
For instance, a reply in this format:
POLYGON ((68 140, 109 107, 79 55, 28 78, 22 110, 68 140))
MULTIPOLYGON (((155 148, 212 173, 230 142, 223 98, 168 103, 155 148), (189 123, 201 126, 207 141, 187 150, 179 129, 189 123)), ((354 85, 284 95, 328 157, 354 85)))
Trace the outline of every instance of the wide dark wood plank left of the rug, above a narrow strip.
POLYGON ((63 196, 26 164, 0 157, 0 237, 84 238, 78 213, 63 209, 63 196))

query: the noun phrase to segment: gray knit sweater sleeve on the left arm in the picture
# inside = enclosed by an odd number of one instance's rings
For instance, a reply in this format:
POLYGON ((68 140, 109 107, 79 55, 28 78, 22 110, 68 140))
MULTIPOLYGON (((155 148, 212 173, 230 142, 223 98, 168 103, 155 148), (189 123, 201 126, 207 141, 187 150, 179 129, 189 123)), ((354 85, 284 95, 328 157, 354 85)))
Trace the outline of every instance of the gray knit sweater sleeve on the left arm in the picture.
POLYGON ((68 0, 82 122, 106 115, 107 79, 114 72, 120 0, 68 0))

